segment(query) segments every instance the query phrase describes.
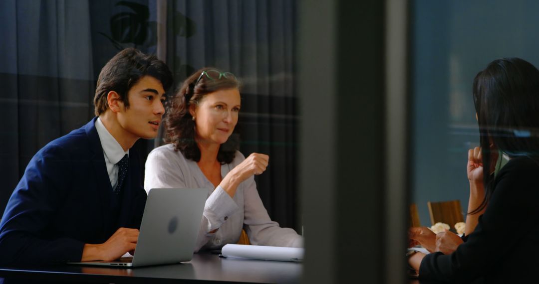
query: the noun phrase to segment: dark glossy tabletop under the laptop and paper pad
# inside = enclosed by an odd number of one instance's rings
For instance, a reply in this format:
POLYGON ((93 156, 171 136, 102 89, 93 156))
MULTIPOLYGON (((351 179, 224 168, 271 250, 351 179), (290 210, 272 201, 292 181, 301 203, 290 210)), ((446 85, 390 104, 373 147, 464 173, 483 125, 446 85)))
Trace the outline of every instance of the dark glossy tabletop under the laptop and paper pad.
POLYGON ((78 265, 0 268, 0 278, 59 283, 299 283, 302 268, 298 262, 226 259, 197 253, 182 264, 127 269, 78 265))

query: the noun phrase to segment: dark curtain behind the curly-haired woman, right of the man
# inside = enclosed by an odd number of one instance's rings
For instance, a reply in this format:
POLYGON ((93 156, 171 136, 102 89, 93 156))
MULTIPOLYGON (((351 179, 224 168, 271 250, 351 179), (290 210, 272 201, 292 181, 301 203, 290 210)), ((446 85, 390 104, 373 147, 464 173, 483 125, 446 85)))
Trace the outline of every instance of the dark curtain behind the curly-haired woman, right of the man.
POLYGON ((295 1, 169 0, 166 15, 165 58, 178 84, 204 66, 243 81, 240 151, 269 155, 256 177, 262 202, 274 221, 299 229, 295 1))

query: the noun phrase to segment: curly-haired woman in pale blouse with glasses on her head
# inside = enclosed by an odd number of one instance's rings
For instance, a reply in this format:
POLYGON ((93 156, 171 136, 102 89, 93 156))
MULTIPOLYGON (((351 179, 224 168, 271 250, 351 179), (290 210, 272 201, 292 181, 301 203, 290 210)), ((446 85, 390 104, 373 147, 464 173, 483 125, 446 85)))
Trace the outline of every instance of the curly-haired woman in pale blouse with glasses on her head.
POLYGON ((300 247, 303 238, 271 221, 254 175, 268 165, 265 154, 247 158, 231 139, 241 108, 240 82, 230 72, 202 68, 186 79, 164 119, 167 145, 146 161, 144 189, 208 190, 195 252, 237 243, 245 229, 253 245, 300 247))

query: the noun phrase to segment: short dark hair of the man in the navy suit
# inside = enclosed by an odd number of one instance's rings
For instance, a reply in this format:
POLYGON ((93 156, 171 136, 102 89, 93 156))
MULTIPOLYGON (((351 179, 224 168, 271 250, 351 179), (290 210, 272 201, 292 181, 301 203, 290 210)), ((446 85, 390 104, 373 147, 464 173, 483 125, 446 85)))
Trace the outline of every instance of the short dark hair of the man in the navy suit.
POLYGON ((114 55, 99 73, 94 97, 95 115, 99 116, 107 110, 109 91, 118 93, 128 108, 127 93, 144 76, 152 76, 161 81, 165 91, 172 86, 172 73, 157 56, 144 54, 135 48, 126 48, 114 55))

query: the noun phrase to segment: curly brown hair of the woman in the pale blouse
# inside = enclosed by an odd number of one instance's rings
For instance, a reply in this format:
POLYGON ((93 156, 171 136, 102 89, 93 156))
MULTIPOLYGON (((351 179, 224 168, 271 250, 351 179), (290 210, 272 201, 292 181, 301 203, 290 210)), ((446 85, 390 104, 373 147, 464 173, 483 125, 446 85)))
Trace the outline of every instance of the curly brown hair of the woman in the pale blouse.
MULTIPOLYGON (((202 99, 215 91, 227 89, 239 89, 241 83, 236 76, 231 73, 229 76, 219 76, 217 80, 210 79, 208 76, 202 76, 202 72, 217 72, 225 74, 212 67, 204 67, 189 76, 179 88, 176 95, 170 100, 167 113, 163 119, 165 131, 165 142, 174 144, 174 150, 180 151, 186 159, 200 161, 201 151, 195 142, 195 122, 189 105, 202 102, 202 99)), ((234 129, 234 133, 219 147, 217 160, 221 164, 230 164, 239 149, 239 138, 234 129)))

